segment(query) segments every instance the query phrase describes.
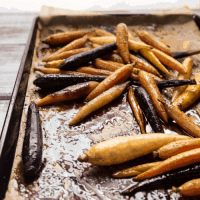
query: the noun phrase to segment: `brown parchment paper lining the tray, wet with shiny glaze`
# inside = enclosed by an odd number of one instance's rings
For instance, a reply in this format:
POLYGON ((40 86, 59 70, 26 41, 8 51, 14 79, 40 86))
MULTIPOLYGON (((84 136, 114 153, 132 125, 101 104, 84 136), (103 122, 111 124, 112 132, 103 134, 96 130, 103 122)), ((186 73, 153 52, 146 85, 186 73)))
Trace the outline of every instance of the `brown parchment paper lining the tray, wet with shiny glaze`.
MULTIPOLYGON (((33 70, 34 66, 41 64, 42 56, 49 53, 48 47, 41 44, 41 40, 59 31, 92 30, 100 25, 116 26, 119 22, 126 23, 130 30, 150 31, 170 45, 173 51, 196 49, 200 45, 200 33, 191 14, 131 16, 91 14, 85 17, 73 15, 56 18, 54 16, 48 19, 48 23, 40 20, 15 161, 5 199, 127 199, 119 192, 129 184, 135 184, 132 178, 113 179, 111 174, 118 169, 151 161, 151 156, 110 167, 92 166, 77 161, 78 156, 95 143, 118 136, 140 134, 127 102, 127 92, 73 127, 69 127, 68 123, 84 105, 84 99, 40 108, 44 164, 33 184, 24 183, 21 162, 27 108, 30 101, 38 101, 42 97, 38 88, 32 84, 38 76, 33 70)), ((199 71, 200 57, 196 55, 193 58, 194 75, 199 71)), ((176 77, 177 73, 173 73, 173 76, 176 77)), ((170 97, 171 89, 164 90, 164 94, 170 97)), ((189 109, 187 114, 200 125, 200 118, 193 108, 189 109)), ((195 104, 195 108, 198 108, 198 103, 195 104)), ((170 126, 163 124, 163 127, 166 133, 186 134, 173 121, 170 126)), ((151 132, 148 124, 147 131, 151 132)), ((132 199, 180 199, 180 195, 172 193, 170 189, 159 189, 152 192, 139 192, 132 199)))

